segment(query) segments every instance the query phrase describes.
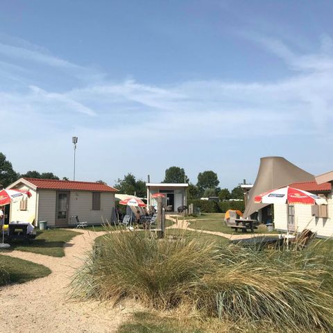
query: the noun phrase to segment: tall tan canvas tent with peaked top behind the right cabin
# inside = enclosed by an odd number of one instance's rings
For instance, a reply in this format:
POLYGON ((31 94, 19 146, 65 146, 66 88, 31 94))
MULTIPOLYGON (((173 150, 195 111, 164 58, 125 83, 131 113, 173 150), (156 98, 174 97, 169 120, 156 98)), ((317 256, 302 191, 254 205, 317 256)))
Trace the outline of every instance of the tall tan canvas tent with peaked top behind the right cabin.
POLYGON ((269 204, 255 203, 253 198, 271 189, 287 186, 293 182, 313 182, 314 175, 296 167, 284 157, 268 156, 260 159, 259 171, 255 184, 248 192, 244 217, 248 217, 257 210, 269 204))

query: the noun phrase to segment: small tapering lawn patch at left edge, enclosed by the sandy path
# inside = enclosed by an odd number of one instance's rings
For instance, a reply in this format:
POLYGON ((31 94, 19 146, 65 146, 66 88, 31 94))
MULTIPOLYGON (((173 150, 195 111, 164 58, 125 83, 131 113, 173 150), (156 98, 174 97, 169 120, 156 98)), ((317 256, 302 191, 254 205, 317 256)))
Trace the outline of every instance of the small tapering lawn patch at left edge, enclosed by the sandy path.
POLYGON ((33 262, 28 262, 23 259, 7 257, 0 255, 0 267, 4 268, 6 279, 1 279, 0 286, 7 283, 24 283, 37 278, 44 278, 44 276, 51 273, 50 269, 33 262))

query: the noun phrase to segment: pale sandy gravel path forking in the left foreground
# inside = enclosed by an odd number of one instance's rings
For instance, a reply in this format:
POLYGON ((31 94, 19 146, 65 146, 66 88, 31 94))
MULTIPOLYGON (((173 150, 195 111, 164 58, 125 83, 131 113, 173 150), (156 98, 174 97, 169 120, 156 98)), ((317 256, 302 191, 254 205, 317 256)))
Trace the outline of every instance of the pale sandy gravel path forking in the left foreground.
MULTIPOLYGON (((76 229, 76 231, 78 231, 76 229)), ((1 333, 106 333, 115 332, 135 311, 131 305, 67 300, 67 285, 75 268, 83 264, 85 252, 101 232, 82 234, 66 244, 65 257, 49 257, 14 250, 6 253, 51 269, 52 273, 24 284, 0 288, 1 333)), ((4 254, 4 253, 1 253, 4 254)))

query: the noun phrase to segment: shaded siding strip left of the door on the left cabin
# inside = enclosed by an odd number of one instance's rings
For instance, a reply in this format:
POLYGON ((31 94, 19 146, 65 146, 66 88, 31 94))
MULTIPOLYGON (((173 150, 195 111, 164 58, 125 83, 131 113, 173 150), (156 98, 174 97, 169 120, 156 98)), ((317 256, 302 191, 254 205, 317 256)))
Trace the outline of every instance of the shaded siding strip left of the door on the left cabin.
POLYGON ((38 221, 47 221, 47 225, 56 223, 56 191, 53 189, 38 190, 38 221))

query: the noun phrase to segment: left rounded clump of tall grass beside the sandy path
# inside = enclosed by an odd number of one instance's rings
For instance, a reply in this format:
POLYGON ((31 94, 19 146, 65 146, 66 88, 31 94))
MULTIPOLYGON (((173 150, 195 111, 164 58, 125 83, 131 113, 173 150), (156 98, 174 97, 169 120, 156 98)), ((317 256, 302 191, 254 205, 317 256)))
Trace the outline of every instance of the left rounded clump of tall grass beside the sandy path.
POLYGON ((177 239, 155 239, 146 232, 110 232, 101 237, 71 289, 80 298, 138 298, 167 309, 184 298, 190 282, 212 273, 219 260, 213 245, 177 239))

